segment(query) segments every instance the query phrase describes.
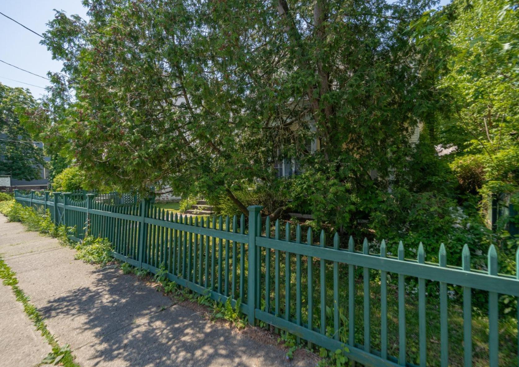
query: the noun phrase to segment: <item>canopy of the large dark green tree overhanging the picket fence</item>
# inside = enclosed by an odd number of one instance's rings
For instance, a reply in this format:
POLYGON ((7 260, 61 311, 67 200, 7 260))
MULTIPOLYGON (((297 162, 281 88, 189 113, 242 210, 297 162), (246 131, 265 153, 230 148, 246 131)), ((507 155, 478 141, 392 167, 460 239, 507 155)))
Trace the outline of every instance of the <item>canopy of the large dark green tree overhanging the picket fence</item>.
POLYGON ((226 194, 242 210, 233 191, 272 182, 280 151, 304 167, 295 203, 347 223, 403 178, 408 136, 442 105, 435 45, 409 30, 433 3, 85 1, 88 21, 48 24, 68 78, 38 123, 110 186, 226 194))

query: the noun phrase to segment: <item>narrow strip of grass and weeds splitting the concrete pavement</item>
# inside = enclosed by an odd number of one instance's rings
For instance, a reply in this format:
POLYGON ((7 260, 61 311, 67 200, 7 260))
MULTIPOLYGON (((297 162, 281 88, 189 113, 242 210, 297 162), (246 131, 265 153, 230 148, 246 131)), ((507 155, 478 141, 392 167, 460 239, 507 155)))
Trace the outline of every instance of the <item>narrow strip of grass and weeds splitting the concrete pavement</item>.
POLYGON ((60 347, 58 341, 50 333, 47 329, 47 326, 43 320, 42 314, 38 312, 36 307, 30 302, 28 295, 18 287, 18 279, 16 278, 16 273, 11 270, 11 268, 5 263, 3 259, 0 258, 0 278, 3 279, 3 284, 5 286, 10 286, 12 292, 16 296, 16 300, 23 305, 23 310, 25 314, 29 317, 29 319, 33 322, 34 327, 42 336, 47 340, 47 343, 52 347, 52 352, 48 354, 42 360, 42 364, 52 363, 52 364, 60 364, 65 367, 79 367, 79 364, 74 362, 74 356, 69 349, 69 345, 65 345, 60 347))

